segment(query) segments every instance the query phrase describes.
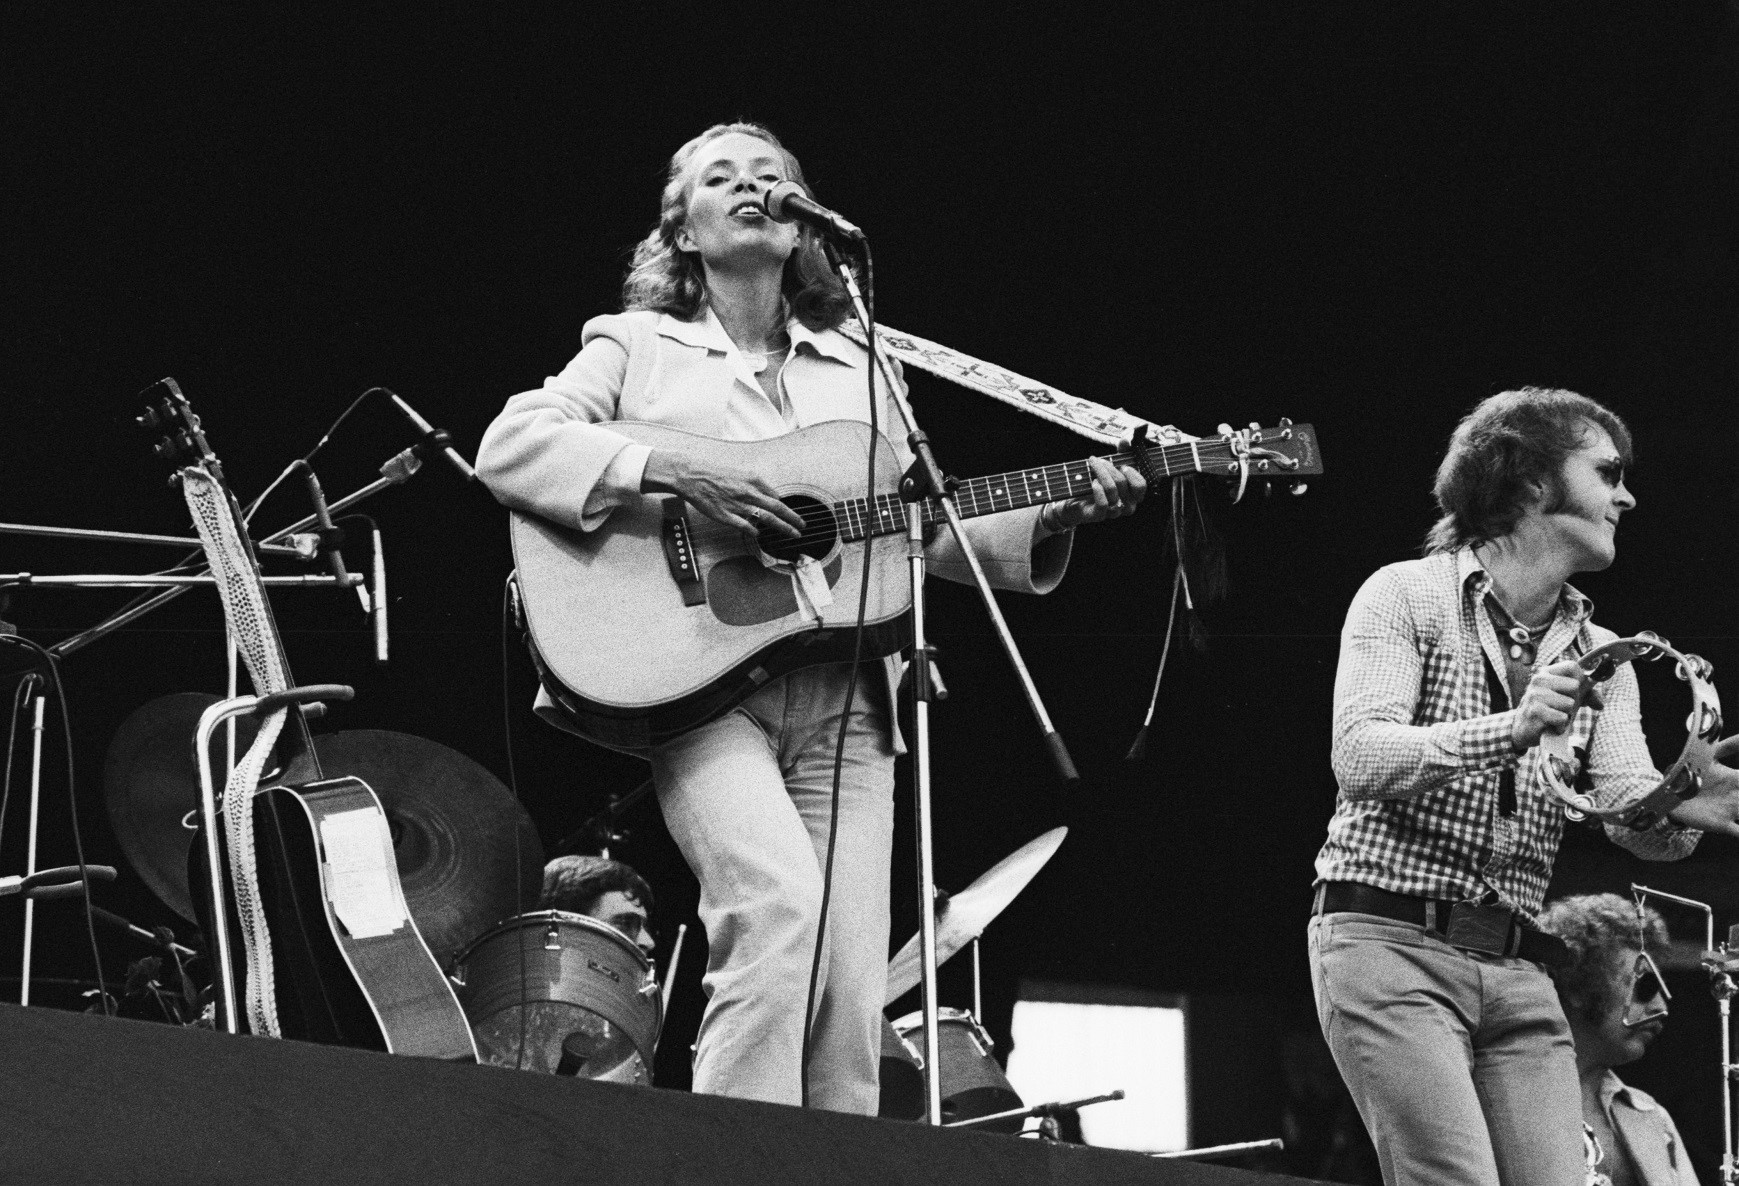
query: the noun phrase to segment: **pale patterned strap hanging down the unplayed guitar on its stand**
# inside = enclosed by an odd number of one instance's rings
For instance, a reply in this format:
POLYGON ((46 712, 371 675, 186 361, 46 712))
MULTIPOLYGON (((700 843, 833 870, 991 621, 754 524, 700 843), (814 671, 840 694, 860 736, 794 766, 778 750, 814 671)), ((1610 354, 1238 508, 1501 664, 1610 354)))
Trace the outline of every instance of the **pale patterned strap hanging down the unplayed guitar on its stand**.
MULTIPOLYGON (((230 497, 203 466, 181 471, 181 490, 193 513, 193 527, 205 546, 205 562, 217 577, 217 596, 230 636, 242 650, 254 692, 282 692, 289 687, 278 650, 277 628, 266 607, 254 558, 242 543, 230 497)), ((266 769, 271 746, 283 730, 287 710, 278 710, 259 725, 247 755, 235 763, 223 793, 224 847, 230 850, 230 880, 235 885, 237 915, 242 920, 242 946, 247 953, 247 1024, 257 1035, 282 1036, 278 1005, 273 993, 271 936, 266 909, 259 901, 259 871, 254 857, 254 788, 266 769)))

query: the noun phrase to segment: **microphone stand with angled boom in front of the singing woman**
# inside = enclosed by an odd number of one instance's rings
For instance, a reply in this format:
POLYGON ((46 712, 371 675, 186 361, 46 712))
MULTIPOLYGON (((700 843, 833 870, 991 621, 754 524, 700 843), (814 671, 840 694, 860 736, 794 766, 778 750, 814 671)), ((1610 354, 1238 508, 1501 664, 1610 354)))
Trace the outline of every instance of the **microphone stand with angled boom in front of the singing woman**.
MULTIPOLYGON (((916 800, 916 833, 918 833, 918 981, 923 986, 923 1094, 925 1094, 925 1120, 932 1125, 943 1123, 943 1080, 941 1080, 941 1035, 937 1023, 939 1003, 936 998, 936 909, 932 903, 936 901, 936 835, 930 803, 930 701, 936 699, 936 676, 932 671, 934 647, 929 643, 929 635, 925 628, 923 614, 923 577, 925 577, 925 560, 923 560, 923 516, 920 506, 927 499, 934 499, 941 508, 943 515, 948 518, 948 530, 953 532, 955 543, 960 546, 960 553, 965 556, 967 565, 972 569, 972 583, 977 586, 979 596, 984 602, 984 609, 989 614, 991 624, 996 630, 996 640, 1002 643, 1003 652, 1014 664, 1014 671, 1021 680, 1021 690, 1026 692, 1028 708, 1038 720, 1038 729, 1045 739, 1045 750, 1050 753, 1052 763, 1057 767, 1057 774, 1064 781, 1075 781, 1080 774, 1075 770, 1075 763, 1069 760, 1068 746, 1063 744, 1063 737, 1057 734, 1056 727, 1050 723, 1050 715, 1045 711, 1045 704, 1038 696, 1038 685, 1033 683, 1033 676, 1021 659, 1021 650, 1014 642, 1014 635, 1009 631, 1009 623, 1002 616, 1002 609, 996 605, 996 595, 989 588, 989 579, 984 576, 984 567, 979 563, 977 553, 972 550, 972 541, 967 539, 965 527, 960 520, 960 510, 955 506, 953 487, 943 476, 941 468, 936 464, 936 454, 930 449, 930 438, 918 428, 916 417, 911 412, 911 405, 906 402, 899 383, 894 379, 894 369, 882 351, 880 341, 876 341, 870 310, 864 306, 863 292, 857 289, 857 277, 847 266, 845 259, 828 240, 826 235, 821 238, 823 250, 828 256, 828 263, 838 273, 840 280, 845 283, 845 292, 850 296, 852 310, 857 315, 857 322, 863 325, 864 341, 870 346, 870 356, 873 365, 882 372, 882 381, 892 396, 894 407, 899 409, 899 417, 906 426, 906 440, 911 445, 915 461, 911 468, 901 476, 899 496, 906 503, 906 556, 911 562, 911 696, 913 696, 913 746, 911 746, 911 769, 915 783, 915 800, 916 800)), ((859 240, 864 254, 868 256, 868 243, 859 240)), ((880 518, 880 506, 876 503, 876 492, 868 492, 871 506, 871 522, 880 518)))

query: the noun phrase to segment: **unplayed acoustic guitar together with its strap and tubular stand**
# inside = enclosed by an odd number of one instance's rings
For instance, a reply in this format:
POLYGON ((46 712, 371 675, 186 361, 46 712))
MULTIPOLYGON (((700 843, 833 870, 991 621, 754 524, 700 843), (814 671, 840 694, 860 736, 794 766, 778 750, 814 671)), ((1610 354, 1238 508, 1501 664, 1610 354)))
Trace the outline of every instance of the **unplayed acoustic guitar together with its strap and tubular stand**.
POLYGON ((195 748, 205 836, 195 843, 190 873, 200 925, 214 939, 219 1028, 240 1028, 233 986, 240 981, 235 969, 243 963, 245 1017, 256 1033, 475 1061, 464 1012, 405 908, 379 798, 362 779, 322 770, 308 732, 304 704, 350 699, 350 689, 290 687, 271 605, 223 468, 174 381, 165 379, 158 390, 160 398, 139 423, 167 433, 157 452, 179 466, 177 478, 219 576, 230 633, 261 692, 207 710, 195 748), (250 791, 250 812, 228 803, 228 819, 221 821, 209 739, 219 722, 245 711, 263 722, 237 765, 230 795, 250 791), (287 725, 282 737, 273 715, 287 725), (283 774, 256 788, 259 763, 275 739, 285 756, 283 774), (219 852, 228 852, 228 868, 219 852), (223 958, 230 934, 245 937, 245 962, 233 958, 240 953, 223 958), (275 972, 289 991, 277 991, 275 972))

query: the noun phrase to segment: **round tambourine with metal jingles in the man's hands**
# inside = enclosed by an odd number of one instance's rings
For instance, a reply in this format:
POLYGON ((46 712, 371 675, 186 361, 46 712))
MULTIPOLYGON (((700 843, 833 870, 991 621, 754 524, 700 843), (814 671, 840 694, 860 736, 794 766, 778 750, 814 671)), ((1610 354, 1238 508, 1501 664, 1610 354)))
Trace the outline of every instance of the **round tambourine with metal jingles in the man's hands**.
POLYGON ((1541 774, 1551 793, 1563 800, 1563 814, 1570 819, 1600 816, 1602 819, 1633 819, 1640 810, 1649 812, 1650 823, 1673 810, 1687 798, 1702 790, 1702 776, 1715 760, 1715 741, 1722 732, 1722 697, 1715 692, 1711 676, 1715 664, 1702 656, 1675 650, 1666 638, 1643 630, 1633 638, 1619 638, 1603 647, 1595 647, 1577 659, 1582 673, 1593 683, 1603 683, 1626 663, 1638 659, 1659 661, 1673 659, 1675 675, 1690 685, 1690 716, 1685 718, 1685 748, 1678 762, 1668 767, 1661 784, 1649 791, 1640 803, 1624 809, 1602 810, 1591 795, 1581 795, 1570 788, 1576 777, 1576 755, 1570 753, 1570 732, 1548 732, 1539 737, 1541 774))

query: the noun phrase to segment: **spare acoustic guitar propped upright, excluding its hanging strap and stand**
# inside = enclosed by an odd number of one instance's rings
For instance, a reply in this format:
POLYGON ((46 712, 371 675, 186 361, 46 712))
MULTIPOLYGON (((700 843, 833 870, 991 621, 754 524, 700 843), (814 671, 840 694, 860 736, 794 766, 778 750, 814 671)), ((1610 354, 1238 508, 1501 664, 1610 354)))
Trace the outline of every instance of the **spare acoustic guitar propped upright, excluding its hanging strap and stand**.
MULTIPOLYGON (((181 388, 163 379, 148 391, 153 393, 139 423, 165 433, 157 454, 177 466, 200 466, 228 503, 233 522, 242 523, 223 466, 181 388)), ((250 565, 243 579, 257 583, 257 567, 250 565)), ((282 663, 282 640, 263 591, 261 602, 266 621, 231 623, 231 630, 259 630, 282 663)), ((283 670, 289 673, 289 663, 283 670)), ((278 741, 283 772, 261 786, 252 803, 280 1036, 476 1061, 464 1010, 405 908, 381 800, 362 779, 322 770, 301 704, 289 706, 285 725, 278 741)), ((200 925, 210 934, 202 852, 203 842, 197 842, 188 873, 200 925)), ((231 934, 240 936, 233 889, 224 901, 231 934)), ((240 948, 238 943, 238 962, 240 948)), ((243 976, 245 969, 238 969, 237 983, 243 976)))

